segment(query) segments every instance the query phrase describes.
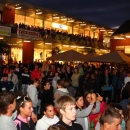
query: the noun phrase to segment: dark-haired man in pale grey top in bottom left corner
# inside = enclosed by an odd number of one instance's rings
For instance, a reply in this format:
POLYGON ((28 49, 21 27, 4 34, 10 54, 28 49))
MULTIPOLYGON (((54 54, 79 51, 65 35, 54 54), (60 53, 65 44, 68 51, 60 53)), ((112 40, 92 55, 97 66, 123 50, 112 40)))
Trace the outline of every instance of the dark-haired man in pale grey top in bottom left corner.
POLYGON ((0 92, 0 130, 17 130, 12 120, 16 97, 11 91, 0 92))

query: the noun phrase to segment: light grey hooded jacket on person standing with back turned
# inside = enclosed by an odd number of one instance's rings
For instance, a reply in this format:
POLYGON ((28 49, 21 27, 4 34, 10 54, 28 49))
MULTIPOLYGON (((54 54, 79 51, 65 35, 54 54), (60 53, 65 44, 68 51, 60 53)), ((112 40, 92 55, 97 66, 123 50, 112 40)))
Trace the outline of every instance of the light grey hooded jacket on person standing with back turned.
POLYGON ((31 98, 33 102, 33 107, 38 106, 38 92, 34 85, 29 85, 27 89, 27 95, 31 98))

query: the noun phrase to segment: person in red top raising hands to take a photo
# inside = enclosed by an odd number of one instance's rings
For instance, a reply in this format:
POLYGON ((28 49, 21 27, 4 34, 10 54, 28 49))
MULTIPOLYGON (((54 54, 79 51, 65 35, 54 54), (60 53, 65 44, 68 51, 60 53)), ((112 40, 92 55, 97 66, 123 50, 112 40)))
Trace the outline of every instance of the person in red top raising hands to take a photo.
MULTIPOLYGON (((94 94, 94 93, 93 93, 94 94)), ((100 110, 97 114, 93 114, 91 113, 89 115, 89 121, 90 124, 94 124, 94 127, 96 126, 100 116, 102 115, 102 113, 105 111, 105 109, 107 108, 106 103, 103 101, 103 98, 99 95, 99 94, 95 94, 97 101, 100 102, 100 110)), ((92 100, 92 92, 91 91, 86 91, 84 94, 84 99, 85 99, 85 106, 88 107, 88 105, 91 103, 92 100)), ((96 102, 94 103, 94 107, 93 109, 96 107, 96 102)))

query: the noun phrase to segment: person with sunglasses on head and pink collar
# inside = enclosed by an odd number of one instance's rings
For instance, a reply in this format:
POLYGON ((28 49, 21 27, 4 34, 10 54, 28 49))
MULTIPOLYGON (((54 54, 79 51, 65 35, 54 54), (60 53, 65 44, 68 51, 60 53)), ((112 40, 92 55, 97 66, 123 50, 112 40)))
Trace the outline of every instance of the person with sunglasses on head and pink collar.
POLYGON ((23 96, 17 99, 16 109, 18 116, 14 120, 17 130, 35 130, 35 124, 31 118, 33 103, 30 97, 23 96))

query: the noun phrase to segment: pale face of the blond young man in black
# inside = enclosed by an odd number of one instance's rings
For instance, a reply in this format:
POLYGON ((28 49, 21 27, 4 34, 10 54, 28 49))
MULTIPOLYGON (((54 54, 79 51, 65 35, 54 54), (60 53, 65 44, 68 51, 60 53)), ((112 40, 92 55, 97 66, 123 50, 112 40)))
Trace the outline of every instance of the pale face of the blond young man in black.
POLYGON ((60 113, 62 114, 62 119, 65 119, 67 121, 73 121, 76 119, 76 106, 75 105, 71 105, 70 103, 68 103, 66 105, 65 110, 60 110, 60 113))

